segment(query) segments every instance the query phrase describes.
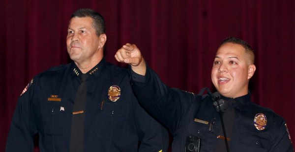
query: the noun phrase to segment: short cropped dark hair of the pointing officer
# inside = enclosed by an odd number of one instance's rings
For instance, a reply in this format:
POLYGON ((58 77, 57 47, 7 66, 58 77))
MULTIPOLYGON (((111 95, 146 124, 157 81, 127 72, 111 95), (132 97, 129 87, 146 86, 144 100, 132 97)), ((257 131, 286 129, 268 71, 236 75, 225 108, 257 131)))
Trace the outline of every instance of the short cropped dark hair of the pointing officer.
POLYGON ((252 49, 252 47, 246 43, 245 41, 235 38, 235 37, 228 37, 225 40, 223 40, 219 46, 221 46, 224 43, 234 43, 234 44, 239 44, 241 46, 243 46, 245 48, 246 53, 248 53, 250 55, 250 59, 251 59, 251 64, 254 64, 254 60, 255 60, 255 55, 254 55, 254 50, 252 49))

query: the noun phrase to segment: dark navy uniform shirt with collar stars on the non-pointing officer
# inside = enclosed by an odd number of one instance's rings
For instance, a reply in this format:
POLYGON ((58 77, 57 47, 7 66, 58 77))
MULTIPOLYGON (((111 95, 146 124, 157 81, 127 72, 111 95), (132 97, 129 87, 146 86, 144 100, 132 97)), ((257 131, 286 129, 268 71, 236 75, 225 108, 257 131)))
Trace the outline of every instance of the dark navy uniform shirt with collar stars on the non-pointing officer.
MULTIPOLYGON (((19 97, 7 138, 7 152, 32 152, 36 133, 41 152, 69 151, 72 109, 81 83, 80 73, 71 63, 49 69, 32 79, 28 90, 19 97)), ((84 152, 167 150, 168 134, 139 106, 127 69, 102 59, 88 75, 84 152), (121 90, 116 102, 108 97, 111 86, 121 90)))

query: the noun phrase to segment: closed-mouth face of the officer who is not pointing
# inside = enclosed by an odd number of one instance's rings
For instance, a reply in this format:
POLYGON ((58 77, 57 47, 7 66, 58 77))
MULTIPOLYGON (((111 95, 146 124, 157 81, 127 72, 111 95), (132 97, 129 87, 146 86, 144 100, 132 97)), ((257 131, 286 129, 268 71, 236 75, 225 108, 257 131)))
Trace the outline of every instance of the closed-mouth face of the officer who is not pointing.
POLYGON ((96 35, 90 17, 74 17, 70 20, 66 45, 70 58, 76 63, 100 61, 105 41, 105 34, 96 35))

